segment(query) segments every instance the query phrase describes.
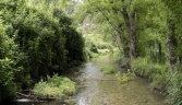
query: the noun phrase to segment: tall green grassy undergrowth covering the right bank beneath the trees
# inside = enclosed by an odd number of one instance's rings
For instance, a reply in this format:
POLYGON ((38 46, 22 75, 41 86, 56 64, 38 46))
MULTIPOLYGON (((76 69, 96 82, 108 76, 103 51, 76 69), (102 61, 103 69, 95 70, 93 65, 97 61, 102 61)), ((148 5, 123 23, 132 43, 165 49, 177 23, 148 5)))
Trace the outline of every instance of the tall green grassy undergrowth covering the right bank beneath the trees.
POLYGON ((147 58, 137 58, 132 61, 137 75, 147 78, 153 90, 166 93, 166 102, 172 105, 182 105, 182 72, 180 66, 175 66, 171 72, 166 63, 154 63, 147 58), (178 69, 177 69, 178 68, 178 69))

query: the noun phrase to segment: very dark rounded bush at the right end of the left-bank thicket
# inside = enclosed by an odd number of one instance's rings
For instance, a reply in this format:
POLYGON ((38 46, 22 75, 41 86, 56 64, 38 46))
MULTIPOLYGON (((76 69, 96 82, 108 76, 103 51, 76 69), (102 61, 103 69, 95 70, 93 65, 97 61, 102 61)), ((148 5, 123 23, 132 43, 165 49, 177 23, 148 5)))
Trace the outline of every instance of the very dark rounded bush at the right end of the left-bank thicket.
POLYGON ((85 42, 81 33, 77 33, 73 27, 68 27, 63 31, 65 35, 65 49, 68 63, 72 61, 84 61, 85 42))

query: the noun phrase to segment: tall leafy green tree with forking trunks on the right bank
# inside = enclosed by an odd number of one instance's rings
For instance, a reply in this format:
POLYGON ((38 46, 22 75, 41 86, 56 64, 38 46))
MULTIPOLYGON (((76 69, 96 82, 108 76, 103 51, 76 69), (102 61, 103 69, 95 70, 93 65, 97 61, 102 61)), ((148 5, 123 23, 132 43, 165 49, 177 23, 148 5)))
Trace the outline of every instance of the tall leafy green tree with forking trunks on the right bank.
MULTIPOLYGON (((86 18, 90 14, 93 15, 90 18, 93 18, 94 22, 108 23, 112 28, 113 40, 117 40, 118 48, 125 57, 130 57, 132 61, 136 57, 139 57, 142 52, 144 52, 143 50, 148 47, 144 46, 144 49, 141 48, 141 42, 143 42, 143 44, 146 43, 147 45, 147 42, 142 39, 142 37, 145 36, 142 36, 141 34, 149 30, 149 33, 151 33, 154 27, 160 25, 158 20, 165 16, 160 15, 159 18, 156 18, 157 14, 160 14, 160 4, 158 3, 160 3, 160 1, 157 0, 85 0, 83 7, 80 8, 80 11, 82 12, 76 13, 82 18, 76 18, 83 19, 83 16, 86 18), (97 21, 95 21, 95 19, 97 21)), ((161 7, 163 7, 162 3, 161 7)), ((159 34, 159 30, 155 28, 154 34, 159 34)), ((161 55, 161 50, 165 50, 161 49, 162 40, 159 38, 153 40, 157 43, 156 46, 159 47, 158 50, 161 55)), ((147 50, 145 51, 146 55, 147 50)))

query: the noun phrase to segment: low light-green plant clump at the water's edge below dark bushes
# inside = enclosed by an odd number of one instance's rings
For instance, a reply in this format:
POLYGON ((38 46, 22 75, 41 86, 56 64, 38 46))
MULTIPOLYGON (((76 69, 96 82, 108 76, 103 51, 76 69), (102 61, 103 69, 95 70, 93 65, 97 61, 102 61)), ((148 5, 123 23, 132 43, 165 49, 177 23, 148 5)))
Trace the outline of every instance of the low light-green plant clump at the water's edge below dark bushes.
POLYGON ((62 97, 63 95, 73 95, 75 93, 75 83, 68 78, 58 77, 50 78, 47 75, 47 81, 40 81, 35 84, 34 93, 38 98, 62 97))

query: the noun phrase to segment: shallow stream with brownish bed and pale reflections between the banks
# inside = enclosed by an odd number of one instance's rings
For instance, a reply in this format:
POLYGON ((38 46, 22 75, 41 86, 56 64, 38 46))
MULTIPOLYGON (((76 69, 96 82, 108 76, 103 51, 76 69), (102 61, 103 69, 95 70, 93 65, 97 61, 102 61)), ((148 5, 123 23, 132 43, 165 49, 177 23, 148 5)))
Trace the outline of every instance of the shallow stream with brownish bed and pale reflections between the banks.
POLYGON ((78 85, 77 93, 68 100, 70 104, 53 101, 29 105, 167 105, 163 96, 151 91, 145 79, 135 77, 132 81, 120 83, 114 74, 104 74, 99 70, 101 66, 112 66, 124 73, 109 56, 99 57, 85 63, 84 68, 72 68, 64 74, 78 85))

